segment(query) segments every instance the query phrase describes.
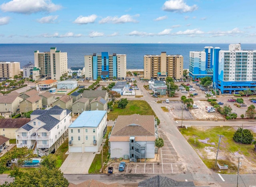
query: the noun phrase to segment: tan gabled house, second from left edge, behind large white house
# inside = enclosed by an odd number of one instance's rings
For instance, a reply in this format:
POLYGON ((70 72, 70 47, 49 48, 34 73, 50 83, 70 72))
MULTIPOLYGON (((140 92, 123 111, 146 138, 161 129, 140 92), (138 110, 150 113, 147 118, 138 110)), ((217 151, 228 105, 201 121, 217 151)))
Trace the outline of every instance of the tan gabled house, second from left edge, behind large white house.
POLYGON ((20 102, 20 112, 22 113, 41 109, 42 107, 42 97, 39 95, 33 95, 20 102))

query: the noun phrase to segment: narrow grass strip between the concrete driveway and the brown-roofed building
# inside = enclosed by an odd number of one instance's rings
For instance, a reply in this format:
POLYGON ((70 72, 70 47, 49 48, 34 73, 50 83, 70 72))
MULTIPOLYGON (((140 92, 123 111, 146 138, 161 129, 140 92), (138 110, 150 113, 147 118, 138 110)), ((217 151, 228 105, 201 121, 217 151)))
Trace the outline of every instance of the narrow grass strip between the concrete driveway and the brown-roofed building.
MULTIPOLYGON (((103 162, 108 163, 108 134, 111 131, 111 127, 108 126, 107 127, 107 134, 105 136, 106 138, 106 142, 105 145, 103 147, 103 162)), ((92 165, 90 166, 90 169, 88 171, 88 173, 100 173, 100 169, 101 169, 101 155, 100 154, 96 154, 94 157, 94 160, 92 161, 92 165)), ((106 164, 103 166, 103 170, 106 168, 106 164)))

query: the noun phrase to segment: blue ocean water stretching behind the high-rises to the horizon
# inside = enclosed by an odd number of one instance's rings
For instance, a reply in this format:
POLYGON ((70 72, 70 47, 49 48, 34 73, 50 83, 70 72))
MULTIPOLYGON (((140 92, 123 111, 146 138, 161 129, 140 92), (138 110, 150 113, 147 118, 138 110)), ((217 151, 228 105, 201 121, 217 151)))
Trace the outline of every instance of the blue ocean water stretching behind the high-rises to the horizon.
MULTIPOLYGON (((84 55, 109 52, 126 54, 127 69, 143 69, 144 55, 179 54, 184 57, 184 69, 189 67, 189 52, 202 51, 205 46, 220 47, 228 50, 229 44, 0 44, 0 61, 20 62, 24 66, 34 64, 34 51, 50 51, 56 47, 68 53, 68 68, 84 67, 84 55)), ((241 44, 242 50, 256 50, 256 44, 241 44)))

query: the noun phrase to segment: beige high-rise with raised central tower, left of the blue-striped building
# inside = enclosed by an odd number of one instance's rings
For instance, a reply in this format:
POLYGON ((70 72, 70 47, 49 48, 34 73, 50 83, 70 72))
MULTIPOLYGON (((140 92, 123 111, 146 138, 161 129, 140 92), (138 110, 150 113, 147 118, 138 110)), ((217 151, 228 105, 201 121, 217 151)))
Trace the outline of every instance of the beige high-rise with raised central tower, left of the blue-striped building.
POLYGON ((50 52, 35 51, 34 61, 40 75, 48 79, 60 80, 61 76, 68 74, 68 55, 56 48, 50 48, 50 52))

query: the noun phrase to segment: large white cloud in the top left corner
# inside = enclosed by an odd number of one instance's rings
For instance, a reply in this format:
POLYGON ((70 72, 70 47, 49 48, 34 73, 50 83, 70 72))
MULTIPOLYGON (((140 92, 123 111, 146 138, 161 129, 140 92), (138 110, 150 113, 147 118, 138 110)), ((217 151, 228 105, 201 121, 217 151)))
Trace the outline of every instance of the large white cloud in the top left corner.
POLYGON ((3 12, 32 14, 36 12, 54 12, 62 6, 52 3, 51 0, 12 0, 0 5, 3 12))

